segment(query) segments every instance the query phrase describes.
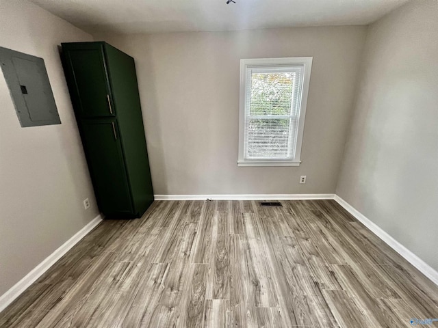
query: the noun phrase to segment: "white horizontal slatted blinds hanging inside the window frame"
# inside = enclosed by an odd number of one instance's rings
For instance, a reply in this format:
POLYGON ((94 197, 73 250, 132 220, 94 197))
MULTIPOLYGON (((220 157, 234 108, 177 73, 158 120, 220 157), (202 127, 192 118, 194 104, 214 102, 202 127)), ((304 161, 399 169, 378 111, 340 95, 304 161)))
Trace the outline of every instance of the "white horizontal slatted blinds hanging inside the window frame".
POLYGON ((293 160, 304 65, 246 67, 244 160, 293 160))

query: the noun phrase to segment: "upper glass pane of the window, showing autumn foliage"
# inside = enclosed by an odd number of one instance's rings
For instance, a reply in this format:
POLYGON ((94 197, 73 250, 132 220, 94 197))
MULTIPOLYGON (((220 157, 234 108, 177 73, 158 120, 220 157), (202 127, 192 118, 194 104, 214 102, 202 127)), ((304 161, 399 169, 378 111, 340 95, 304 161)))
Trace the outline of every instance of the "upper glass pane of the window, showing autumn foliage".
POLYGON ((249 115, 295 115, 296 72, 252 72, 249 115))

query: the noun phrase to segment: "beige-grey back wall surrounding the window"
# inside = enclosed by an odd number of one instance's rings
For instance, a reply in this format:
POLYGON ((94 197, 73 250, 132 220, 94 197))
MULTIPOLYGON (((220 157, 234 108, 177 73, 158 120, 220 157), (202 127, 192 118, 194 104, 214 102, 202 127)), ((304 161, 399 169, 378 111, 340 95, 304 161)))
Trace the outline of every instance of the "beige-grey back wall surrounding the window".
POLYGON ((365 33, 348 26, 94 38, 136 59, 156 194, 334 193, 365 33), (296 56, 313 56, 301 166, 237 167, 240 59, 296 56))

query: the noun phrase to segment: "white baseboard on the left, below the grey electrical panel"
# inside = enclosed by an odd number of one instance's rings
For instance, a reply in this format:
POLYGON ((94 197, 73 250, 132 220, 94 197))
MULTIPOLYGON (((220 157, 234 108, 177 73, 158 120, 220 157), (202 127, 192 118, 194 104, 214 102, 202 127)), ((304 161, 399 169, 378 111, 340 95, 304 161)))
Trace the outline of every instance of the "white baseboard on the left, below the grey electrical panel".
POLYGON ((5 292, 0 297, 0 312, 3 311, 14 299, 21 295, 36 279, 38 279, 44 272, 46 272, 57 260, 62 258, 67 251, 75 246, 88 232, 94 229, 102 221, 101 215, 97 215, 90 223, 79 230, 73 237, 68 239, 52 254, 45 258, 40 264, 38 264, 32 271, 27 273, 23 279, 17 282, 10 290, 5 292))

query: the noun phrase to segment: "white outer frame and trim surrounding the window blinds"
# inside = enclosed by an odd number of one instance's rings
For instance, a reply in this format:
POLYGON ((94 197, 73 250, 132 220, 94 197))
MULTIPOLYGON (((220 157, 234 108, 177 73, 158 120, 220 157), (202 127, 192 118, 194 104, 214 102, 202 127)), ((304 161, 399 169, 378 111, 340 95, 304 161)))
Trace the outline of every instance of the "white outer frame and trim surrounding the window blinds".
POLYGON ((309 95, 310 73, 313 57, 287 57, 287 58, 257 58, 240 59, 240 116, 239 116, 239 156, 238 166, 300 166, 302 135, 309 95), (290 66, 304 66, 302 74, 302 94, 298 106, 298 131, 296 135, 296 148, 294 159, 245 159, 245 127, 246 127, 246 85, 248 68, 281 68, 290 66))

